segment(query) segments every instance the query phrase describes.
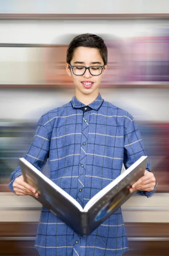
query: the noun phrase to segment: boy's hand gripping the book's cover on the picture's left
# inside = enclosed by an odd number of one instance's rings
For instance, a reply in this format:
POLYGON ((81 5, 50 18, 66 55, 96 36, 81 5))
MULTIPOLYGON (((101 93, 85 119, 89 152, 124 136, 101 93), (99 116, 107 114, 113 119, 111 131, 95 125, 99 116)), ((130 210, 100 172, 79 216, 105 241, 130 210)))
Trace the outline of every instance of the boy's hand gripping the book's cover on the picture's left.
POLYGON ((38 197, 38 193, 23 180, 23 175, 14 180, 13 188, 16 195, 33 195, 38 197))

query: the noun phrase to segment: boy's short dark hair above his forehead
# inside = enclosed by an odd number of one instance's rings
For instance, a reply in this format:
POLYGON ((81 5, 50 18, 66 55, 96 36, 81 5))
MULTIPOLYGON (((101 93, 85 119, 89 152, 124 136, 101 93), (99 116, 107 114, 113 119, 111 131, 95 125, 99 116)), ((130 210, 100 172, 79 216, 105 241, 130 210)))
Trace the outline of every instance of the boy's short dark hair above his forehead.
POLYGON ((73 38, 67 49, 67 63, 70 64, 77 47, 97 48, 99 50, 100 56, 103 59, 104 65, 107 64, 107 47, 104 43, 103 38, 101 38, 100 36, 86 33, 82 35, 77 35, 75 38, 73 38))

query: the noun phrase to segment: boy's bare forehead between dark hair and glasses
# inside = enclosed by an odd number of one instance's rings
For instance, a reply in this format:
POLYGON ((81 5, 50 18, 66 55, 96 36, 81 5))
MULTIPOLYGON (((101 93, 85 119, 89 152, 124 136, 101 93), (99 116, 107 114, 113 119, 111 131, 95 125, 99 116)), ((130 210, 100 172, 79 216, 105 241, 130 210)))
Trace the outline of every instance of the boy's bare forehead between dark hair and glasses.
POLYGON ((89 47, 77 47, 74 51, 72 61, 81 61, 84 63, 92 63, 99 61, 103 64, 103 59, 99 53, 99 50, 96 48, 89 47))

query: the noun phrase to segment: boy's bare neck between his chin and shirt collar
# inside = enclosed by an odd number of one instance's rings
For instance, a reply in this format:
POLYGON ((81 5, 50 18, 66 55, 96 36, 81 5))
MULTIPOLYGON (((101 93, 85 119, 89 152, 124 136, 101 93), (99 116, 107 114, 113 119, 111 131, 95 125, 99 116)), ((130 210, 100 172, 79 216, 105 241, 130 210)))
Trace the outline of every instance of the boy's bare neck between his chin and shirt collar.
POLYGON ((84 94, 84 93, 81 93, 80 91, 75 90, 76 99, 78 99, 80 102, 82 102, 86 106, 92 103, 97 98, 98 95, 99 95, 98 90, 95 90, 93 93, 90 93, 90 94, 84 94))

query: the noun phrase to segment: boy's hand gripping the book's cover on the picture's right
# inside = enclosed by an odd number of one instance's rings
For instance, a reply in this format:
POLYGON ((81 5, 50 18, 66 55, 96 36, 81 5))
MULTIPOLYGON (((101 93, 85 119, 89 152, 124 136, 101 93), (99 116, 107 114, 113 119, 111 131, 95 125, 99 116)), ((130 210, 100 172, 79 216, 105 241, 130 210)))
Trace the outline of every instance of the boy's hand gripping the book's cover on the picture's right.
POLYGON ((152 172, 145 170, 144 176, 137 180, 132 188, 129 189, 130 192, 135 190, 141 191, 152 191, 155 188, 155 175, 152 172))

